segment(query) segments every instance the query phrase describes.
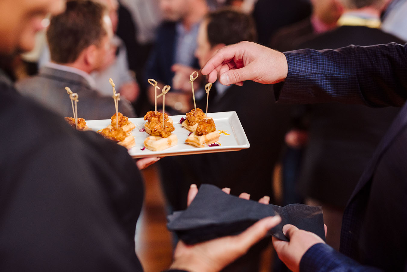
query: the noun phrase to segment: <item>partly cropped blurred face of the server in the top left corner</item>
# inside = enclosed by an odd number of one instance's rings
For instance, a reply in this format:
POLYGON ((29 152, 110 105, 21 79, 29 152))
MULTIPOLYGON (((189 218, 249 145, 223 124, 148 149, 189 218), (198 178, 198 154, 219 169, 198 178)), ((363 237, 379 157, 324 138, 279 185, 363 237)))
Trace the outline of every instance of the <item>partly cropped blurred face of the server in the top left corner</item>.
POLYGON ((64 8, 64 0, 0 0, 0 54, 32 50, 44 18, 64 8))

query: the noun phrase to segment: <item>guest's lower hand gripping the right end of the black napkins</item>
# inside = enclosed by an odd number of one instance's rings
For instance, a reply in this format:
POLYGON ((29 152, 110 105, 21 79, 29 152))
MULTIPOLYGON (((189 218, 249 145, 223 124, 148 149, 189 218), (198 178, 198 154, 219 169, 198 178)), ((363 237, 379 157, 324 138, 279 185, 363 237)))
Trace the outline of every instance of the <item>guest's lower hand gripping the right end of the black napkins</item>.
POLYGON ((300 230, 293 225, 284 225, 282 232, 290 241, 282 241, 272 237, 273 246, 280 260, 293 272, 300 271, 301 258, 311 246, 317 243, 325 243, 324 240, 315 233, 300 230))

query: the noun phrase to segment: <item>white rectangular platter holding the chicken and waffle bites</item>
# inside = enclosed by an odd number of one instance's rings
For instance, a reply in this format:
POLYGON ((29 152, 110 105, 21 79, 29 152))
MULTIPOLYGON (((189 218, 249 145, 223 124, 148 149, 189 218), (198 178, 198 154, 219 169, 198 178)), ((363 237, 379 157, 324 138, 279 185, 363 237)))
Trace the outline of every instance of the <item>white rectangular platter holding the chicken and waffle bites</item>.
MULTIPOLYGON (((129 118, 131 122, 136 125, 131 134, 135 137, 136 145, 129 149, 129 154, 133 158, 145 158, 145 157, 165 157, 165 156, 178 156, 178 155, 189 155, 189 154, 201 154, 201 153, 213 153, 213 152, 224 152, 224 151, 237 151, 245 148, 249 148, 249 140, 247 140, 245 131, 237 117, 236 112, 213 112, 208 113, 209 117, 212 117, 215 121, 216 129, 218 131, 224 131, 230 135, 226 135, 220 132, 218 143, 220 146, 212 147, 194 147, 185 143, 186 138, 190 131, 183 127, 179 121, 181 118, 185 118, 184 115, 174 115, 170 116, 173 119, 173 124, 175 130, 174 134, 177 135, 178 143, 177 145, 170 147, 162 151, 151 151, 147 148, 144 150, 144 139, 150 136, 147 132, 144 132, 144 121, 143 118, 129 118)), ((110 119, 105 120, 87 120, 86 124, 88 127, 94 131, 103 129, 111 123, 110 119)))

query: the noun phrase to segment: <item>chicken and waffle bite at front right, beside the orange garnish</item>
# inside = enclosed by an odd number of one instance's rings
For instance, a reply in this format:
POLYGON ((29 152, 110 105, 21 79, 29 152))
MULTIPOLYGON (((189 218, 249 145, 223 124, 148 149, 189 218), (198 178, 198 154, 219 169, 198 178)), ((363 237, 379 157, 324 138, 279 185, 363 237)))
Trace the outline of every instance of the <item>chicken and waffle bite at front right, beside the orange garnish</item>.
POLYGON ((204 119, 197 124, 197 129, 192 132, 185 142, 197 147, 206 147, 219 140, 219 132, 216 130, 212 118, 204 119))

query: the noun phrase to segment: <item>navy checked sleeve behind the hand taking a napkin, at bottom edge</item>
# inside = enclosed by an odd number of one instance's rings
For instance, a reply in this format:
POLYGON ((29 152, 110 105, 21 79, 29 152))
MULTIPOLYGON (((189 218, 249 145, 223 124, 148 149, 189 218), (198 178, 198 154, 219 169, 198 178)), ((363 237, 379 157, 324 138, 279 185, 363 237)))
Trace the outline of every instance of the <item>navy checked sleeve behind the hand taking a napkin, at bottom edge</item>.
POLYGON ((324 243, 317 243, 307 250, 300 261, 300 272, 380 272, 364 266, 335 251, 324 243))

